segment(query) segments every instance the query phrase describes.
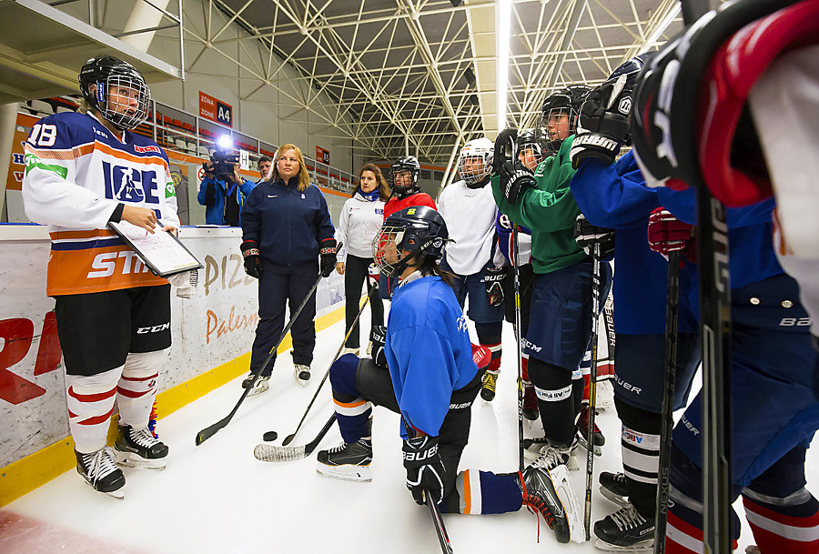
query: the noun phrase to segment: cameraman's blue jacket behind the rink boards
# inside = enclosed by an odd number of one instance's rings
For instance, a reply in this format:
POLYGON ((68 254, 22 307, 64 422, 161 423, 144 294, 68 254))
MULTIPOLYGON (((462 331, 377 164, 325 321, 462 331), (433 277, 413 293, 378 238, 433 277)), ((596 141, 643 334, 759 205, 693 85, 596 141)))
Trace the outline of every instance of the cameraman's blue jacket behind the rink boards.
POLYGON ((205 223, 237 227, 245 198, 256 183, 239 175, 238 164, 233 164, 233 174, 227 176, 214 175, 213 161, 207 161, 203 166, 205 178, 199 185, 197 200, 206 206, 205 223))

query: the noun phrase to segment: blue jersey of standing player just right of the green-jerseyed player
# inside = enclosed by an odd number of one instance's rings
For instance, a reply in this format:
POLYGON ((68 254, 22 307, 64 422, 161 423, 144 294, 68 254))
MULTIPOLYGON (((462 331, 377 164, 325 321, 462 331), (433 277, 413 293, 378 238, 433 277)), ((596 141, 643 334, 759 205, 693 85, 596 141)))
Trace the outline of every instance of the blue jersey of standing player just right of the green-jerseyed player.
MULTIPOLYGON (((668 262, 648 244, 648 219, 660 206, 654 189, 634 161, 632 152, 612 166, 584 160, 571 179, 571 195, 594 225, 617 229, 614 237, 614 329, 625 335, 665 332, 668 262)), ((697 330, 687 297, 693 267, 680 271, 680 331, 697 330)))

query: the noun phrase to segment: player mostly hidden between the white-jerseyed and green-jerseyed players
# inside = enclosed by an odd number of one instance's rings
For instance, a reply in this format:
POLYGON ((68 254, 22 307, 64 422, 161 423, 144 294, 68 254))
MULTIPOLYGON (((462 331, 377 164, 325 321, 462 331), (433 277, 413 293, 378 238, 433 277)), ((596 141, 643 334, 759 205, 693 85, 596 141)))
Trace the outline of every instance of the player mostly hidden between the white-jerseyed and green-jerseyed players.
MULTIPOLYGON (((518 135, 516 144, 516 156, 518 160, 530 171, 534 171, 544 159, 543 148, 538 142, 534 130, 528 130, 518 135)), ((512 252, 514 251, 514 236, 512 227, 517 227, 518 235, 518 258, 515 263, 518 266, 518 274, 521 287, 521 328, 516 330, 521 337, 526 337, 529 329, 529 307, 531 306, 531 288, 534 281, 534 272, 531 268, 531 231, 526 227, 513 224, 509 216, 504 216, 498 212, 495 219, 495 232, 498 234, 498 247, 506 259, 506 263, 512 267, 509 275, 503 282, 503 299, 506 312, 506 320, 515 325, 515 285, 514 285, 514 265, 512 262, 512 252)), ((523 417, 534 421, 540 417, 538 414, 538 397, 535 395, 534 386, 529 380, 529 356, 523 354, 521 357, 521 369, 523 378, 523 417)))

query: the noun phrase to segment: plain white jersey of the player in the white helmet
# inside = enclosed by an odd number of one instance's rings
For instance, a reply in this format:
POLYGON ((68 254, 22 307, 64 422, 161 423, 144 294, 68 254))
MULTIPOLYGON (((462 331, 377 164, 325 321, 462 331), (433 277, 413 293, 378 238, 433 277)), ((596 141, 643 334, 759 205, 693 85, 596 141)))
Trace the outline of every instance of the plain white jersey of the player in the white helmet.
POLYGON ((478 273, 490 261, 495 240, 498 206, 492 187, 470 188, 463 181, 447 186, 440 193, 438 211, 447 223, 450 239, 446 260, 458 275, 478 273))

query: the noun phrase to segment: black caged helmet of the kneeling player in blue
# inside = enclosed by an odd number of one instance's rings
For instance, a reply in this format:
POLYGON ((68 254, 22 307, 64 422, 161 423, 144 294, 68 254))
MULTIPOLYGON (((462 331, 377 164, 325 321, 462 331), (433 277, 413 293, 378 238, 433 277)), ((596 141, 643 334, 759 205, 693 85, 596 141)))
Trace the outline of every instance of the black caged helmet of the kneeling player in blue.
POLYGON ((384 221, 372 240, 372 257, 382 274, 398 277, 413 257, 419 262, 428 257, 439 260, 449 237, 447 224, 437 211, 429 206, 405 207, 384 221), (410 255, 400 257, 401 250, 410 255))

